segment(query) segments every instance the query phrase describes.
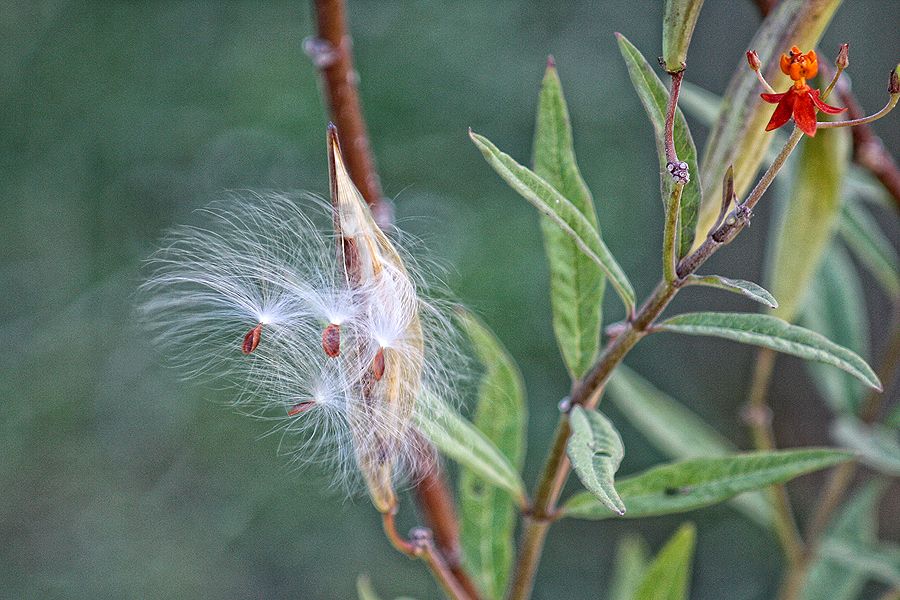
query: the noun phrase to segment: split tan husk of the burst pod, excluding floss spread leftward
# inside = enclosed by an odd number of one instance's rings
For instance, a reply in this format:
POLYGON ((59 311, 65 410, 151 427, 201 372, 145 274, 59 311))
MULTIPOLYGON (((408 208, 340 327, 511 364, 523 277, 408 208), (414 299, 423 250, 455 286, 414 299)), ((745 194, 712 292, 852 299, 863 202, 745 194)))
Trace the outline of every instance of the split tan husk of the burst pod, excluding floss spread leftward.
POLYGON ((372 339, 343 349, 357 364, 369 366, 355 384, 359 401, 350 407, 349 423, 372 501, 379 511, 391 512, 394 470, 409 452, 422 381, 418 299, 403 260, 350 179, 334 126, 328 130, 328 149, 338 262, 372 332, 372 339))

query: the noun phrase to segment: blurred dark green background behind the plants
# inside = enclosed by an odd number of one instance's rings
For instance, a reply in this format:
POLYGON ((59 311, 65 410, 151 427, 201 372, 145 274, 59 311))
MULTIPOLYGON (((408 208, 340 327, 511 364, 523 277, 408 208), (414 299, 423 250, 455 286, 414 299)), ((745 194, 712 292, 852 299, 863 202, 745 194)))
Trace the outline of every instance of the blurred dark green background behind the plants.
MULTIPOLYGON (((659 273, 657 163, 612 33, 656 56, 661 2, 360 1, 350 16, 385 191, 524 372, 532 481, 568 389, 547 269, 536 215, 466 128, 526 161, 553 53, 606 241, 646 294, 659 273)), ((869 109, 900 55, 898 17, 893 0, 847 2, 822 44, 831 56, 851 42, 869 109)), ((758 22, 749 1, 708 2, 688 79, 722 92, 758 22)), ((351 598, 359 573, 385 597, 437 595, 365 499, 292 470, 264 423, 181 382, 134 322, 141 261, 167 227, 196 222, 192 211, 224 190, 327 191, 326 116, 301 51, 311 33, 297 0, 0 4, 0 597, 351 598)), ((896 118, 876 130, 897 147, 896 118)), ((702 145, 705 130, 694 133, 702 145)), ((759 214, 710 271, 760 280, 765 203, 759 214)), ((888 304, 865 282, 877 349, 888 304)), ((608 296, 607 322, 621 317, 608 296)), ((676 309, 753 309, 683 296, 676 309)), ((659 337, 628 362, 746 447, 737 413, 753 355, 659 337)), ((782 444, 828 442, 827 409, 797 361, 779 363, 772 397, 782 444)), ((622 473, 662 459, 612 416, 622 473)), ((821 482, 792 484, 801 515, 821 482)), ((692 597, 772 597, 780 563, 768 534, 727 507, 684 519, 699 526, 692 597)), ((536 597, 603 597, 623 532, 656 546, 684 519, 560 523, 536 597)), ((896 521, 884 519, 882 537, 897 538, 896 521)))

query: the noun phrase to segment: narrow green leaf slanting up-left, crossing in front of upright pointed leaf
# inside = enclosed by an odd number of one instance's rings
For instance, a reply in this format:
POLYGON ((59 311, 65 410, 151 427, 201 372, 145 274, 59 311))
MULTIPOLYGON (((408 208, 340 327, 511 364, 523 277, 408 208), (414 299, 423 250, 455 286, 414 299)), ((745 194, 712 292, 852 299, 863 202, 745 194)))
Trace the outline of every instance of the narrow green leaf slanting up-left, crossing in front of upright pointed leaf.
POLYGON ((622 298, 628 313, 634 312, 634 288, 622 267, 613 258, 600 234, 578 208, 569 202, 552 185, 535 175, 530 169, 514 161, 508 154, 497 149, 487 138, 474 132, 469 137, 481 150, 485 159, 495 171, 523 198, 541 213, 547 215, 569 237, 578 248, 603 269, 610 283, 622 298))

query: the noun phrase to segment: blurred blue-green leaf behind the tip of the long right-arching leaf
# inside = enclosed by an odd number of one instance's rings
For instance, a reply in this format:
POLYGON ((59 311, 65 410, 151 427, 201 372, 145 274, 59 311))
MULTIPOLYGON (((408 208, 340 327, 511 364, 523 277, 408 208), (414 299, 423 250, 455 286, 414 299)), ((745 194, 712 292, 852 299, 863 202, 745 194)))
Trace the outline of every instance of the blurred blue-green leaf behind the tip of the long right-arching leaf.
MULTIPOLYGON (((860 356, 869 354, 868 311, 862 283, 847 252, 832 242, 828 259, 819 266, 806 302, 801 323, 860 356)), ((819 393, 837 414, 856 414, 865 388, 856 379, 822 365, 808 362, 806 368, 819 393)))

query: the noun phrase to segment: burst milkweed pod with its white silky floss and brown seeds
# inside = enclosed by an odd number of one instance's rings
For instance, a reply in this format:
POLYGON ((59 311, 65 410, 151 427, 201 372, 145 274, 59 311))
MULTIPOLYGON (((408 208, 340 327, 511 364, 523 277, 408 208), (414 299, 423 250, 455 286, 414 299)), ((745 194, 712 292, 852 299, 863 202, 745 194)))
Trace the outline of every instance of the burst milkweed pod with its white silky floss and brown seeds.
POLYGON ((245 193, 199 211, 148 261, 143 320, 189 377, 239 389, 297 463, 363 484, 378 510, 421 476, 421 398, 452 403, 458 360, 449 311, 429 278, 372 219, 328 134, 331 202, 245 193), (333 229, 333 231, 332 231, 333 229), (449 374, 452 373, 452 377, 449 374), (435 390, 439 390, 440 393, 435 390))

